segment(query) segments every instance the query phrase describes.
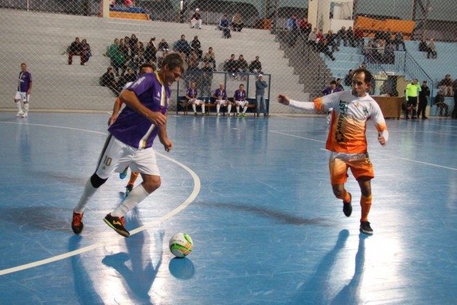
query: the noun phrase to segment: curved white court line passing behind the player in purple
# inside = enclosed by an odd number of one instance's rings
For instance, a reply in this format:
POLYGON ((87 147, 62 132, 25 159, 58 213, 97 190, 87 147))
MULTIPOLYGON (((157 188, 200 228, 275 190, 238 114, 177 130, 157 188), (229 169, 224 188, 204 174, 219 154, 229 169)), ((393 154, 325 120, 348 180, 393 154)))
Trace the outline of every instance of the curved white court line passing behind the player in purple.
MULTIPOLYGON (((0 123, 10 123, 10 122, 0 122, 0 123)), ((16 124, 19 124, 19 123, 16 123, 16 124)), ((39 124, 27 124, 27 125, 46 126, 46 127, 71 129, 71 130, 82 130, 82 129, 78 129, 78 128, 66 128, 66 127, 52 126, 52 125, 39 125, 39 124)), ((82 130, 82 131, 95 132, 95 131, 91 131, 91 130, 82 130)), ((95 133, 106 134, 104 132, 95 132, 95 133)), ((181 166, 186 171, 188 171, 188 173, 190 173, 190 175, 192 176, 192 178, 194 180, 194 189, 193 189, 192 193, 190 193, 189 197, 186 200, 184 200, 184 202, 181 203, 179 205, 179 207, 177 207, 176 209, 168 212, 167 214, 165 214, 161 218, 159 218, 157 220, 154 220, 152 223, 150 223, 148 225, 143 225, 141 227, 133 229, 132 231, 130 231, 130 235, 134 235, 136 233, 144 231, 145 229, 153 227, 154 225, 157 225, 157 224, 163 222, 164 220, 167 220, 168 218, 178 214, 180 211, 182 211, 183 209, 188 207, 188 205, 191 204, 193 200, 195 200, 195 198, 197 197, 197 195, 198 195, 198 193, 199 193, 199 191, 201 189, 200 179, 199 179, 199 177, 197 176, 197 174, 194 171, 192 171, 190 168, 188 168, 187 166, 185 166, 181 162, 177 162, 176 160, 174 160, 174 159, 172 159, 172 158, 170 158, 170 157, 168 157, 166 155, 163 155, 163 154, 157 153, 157 152, 156 152, 156 155, 159 155, 160 157, 163 157, 164 159, 168 159, 168 161, 173 162, 174 164, 177 164, 178 166, 181 166)), ((120 236, 119 236, 119 238, 123 239, 123 237, 120 237, 120 236)), ((60 255, 57 255, 57 256, 53 256, 53 257, 50 257, 48 259, 42 259, 41 261, 35 261, 33 263, 26 263, 25 265, 18 265, 17 267, 3 269, 3 270, 0 270, 0 276, 1 275, 8 275, 9 273, 18 272, 18 271, 21 271, 21 270, 35 268, 35 267, 37 267, 39 265, 45 265, 46 263, 53 263, 55 261, 60 261, 62 259, 68 259, 71 256, 82 254, 84 252, 89 252, 91 250, 94 250, 94 249, 96 249, 98 247, 102 247, 104 245, 107 245, 107 243, 94 243, 93 245, 89 245, 87 247, 82 247, 82 248, 80 248, 78 250, 74 250, 74 251, 67 252, 67 253, 64 253, 64 254, 60 254, 60 255)))

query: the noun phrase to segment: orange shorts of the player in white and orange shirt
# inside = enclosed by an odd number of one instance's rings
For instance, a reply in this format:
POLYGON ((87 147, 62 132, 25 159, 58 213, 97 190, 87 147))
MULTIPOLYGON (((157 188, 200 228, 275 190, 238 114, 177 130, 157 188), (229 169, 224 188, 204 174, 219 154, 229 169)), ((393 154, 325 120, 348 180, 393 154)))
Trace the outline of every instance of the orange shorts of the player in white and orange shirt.
POLYGON ((345 154, 345 153, 331 153, 328 161, 330 170, 330 182, 334 184, 344 184, 348 180, 348 168, 355 180, 360 177, 375 177, 373 171, 373 164, 370 162, 368 153, 365 154, 345 154))

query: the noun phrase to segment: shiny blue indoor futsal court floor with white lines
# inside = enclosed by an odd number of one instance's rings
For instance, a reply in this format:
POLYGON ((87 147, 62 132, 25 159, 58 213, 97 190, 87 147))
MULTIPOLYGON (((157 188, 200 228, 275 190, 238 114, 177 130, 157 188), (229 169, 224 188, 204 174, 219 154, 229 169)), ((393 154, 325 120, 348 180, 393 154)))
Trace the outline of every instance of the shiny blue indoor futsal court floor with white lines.
MULTIPOLYGON (((368 121, 372 236, 334 198, 323 116, 168 117, 162 185, 126 217, 114 173, 71 216, 109 114, 0 113, 0 304, 457 304, 457 120, 368 121), (170 237, 194 242, 174 259, 170 237)), ((141 182, 138 178, 136 184, 141 182)))

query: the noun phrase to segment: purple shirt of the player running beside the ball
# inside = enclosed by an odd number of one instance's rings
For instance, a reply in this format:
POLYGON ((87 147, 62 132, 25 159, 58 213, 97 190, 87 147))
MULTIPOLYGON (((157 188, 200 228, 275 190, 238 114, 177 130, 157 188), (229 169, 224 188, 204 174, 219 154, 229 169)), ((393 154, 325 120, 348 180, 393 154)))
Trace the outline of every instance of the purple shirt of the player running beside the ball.
MULTIPOLYGON (((146 73, 135 80, 130 90, 138 100, 154 112, 165 114, 168 110, 171 89, 161 83, 157 73, 146 73)), ((134 148, 150 148, 159 128, 128 105, 120 112, 118 118, 108 128, 119 141, 134 148)))

